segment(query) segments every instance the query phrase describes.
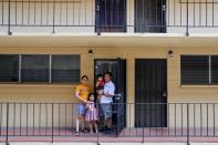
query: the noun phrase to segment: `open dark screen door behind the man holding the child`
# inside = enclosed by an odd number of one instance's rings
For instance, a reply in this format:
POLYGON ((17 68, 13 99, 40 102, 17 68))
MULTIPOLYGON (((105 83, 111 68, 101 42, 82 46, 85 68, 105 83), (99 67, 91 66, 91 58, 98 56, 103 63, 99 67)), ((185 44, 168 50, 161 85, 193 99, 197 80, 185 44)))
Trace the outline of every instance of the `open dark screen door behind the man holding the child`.
POLYGON ((126 125, 126 61, 125 60, 95 60, 95 80, 97 74, 111 72, 115 84, 115 96, 113 97, 113 125, 118 133, 126 125))

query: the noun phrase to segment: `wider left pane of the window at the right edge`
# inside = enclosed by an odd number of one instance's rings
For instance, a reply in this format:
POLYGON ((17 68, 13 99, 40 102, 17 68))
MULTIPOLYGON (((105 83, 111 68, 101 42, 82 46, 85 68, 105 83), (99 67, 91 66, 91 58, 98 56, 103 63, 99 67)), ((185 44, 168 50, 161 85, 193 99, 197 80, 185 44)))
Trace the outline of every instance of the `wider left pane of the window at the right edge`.
POLYGON ((209 56, 181 55, 181 84, 209 84, 209 56))

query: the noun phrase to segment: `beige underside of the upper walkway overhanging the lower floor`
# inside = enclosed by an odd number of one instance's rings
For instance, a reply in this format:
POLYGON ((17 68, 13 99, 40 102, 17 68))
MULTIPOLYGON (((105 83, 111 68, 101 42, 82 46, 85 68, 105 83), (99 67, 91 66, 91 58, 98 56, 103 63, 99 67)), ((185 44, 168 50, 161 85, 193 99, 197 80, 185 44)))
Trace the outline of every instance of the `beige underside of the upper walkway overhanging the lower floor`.
POLYGON ((218 37, 184 35, 0 35, 0 48, 142 48, 160 45, 218 48, 218 37))

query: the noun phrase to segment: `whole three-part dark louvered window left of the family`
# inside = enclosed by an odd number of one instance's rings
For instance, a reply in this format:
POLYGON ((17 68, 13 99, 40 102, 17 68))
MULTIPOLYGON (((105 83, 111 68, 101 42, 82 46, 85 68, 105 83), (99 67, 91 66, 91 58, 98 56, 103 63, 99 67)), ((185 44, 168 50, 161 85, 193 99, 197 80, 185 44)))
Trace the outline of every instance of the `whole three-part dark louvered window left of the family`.
POLYGON ((77 83, 80 55, 0 54, 0 83, 77 83))

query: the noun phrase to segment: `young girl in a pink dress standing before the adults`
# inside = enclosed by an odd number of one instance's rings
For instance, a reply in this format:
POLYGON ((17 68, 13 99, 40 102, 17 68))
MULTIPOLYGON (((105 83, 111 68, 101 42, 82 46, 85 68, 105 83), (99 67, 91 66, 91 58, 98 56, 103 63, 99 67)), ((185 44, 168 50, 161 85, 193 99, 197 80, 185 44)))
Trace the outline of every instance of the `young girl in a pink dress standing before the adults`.
POLYGON ((94 93, 90 93, 89 94, 89 101, 90 103, 86 104, 86 114, 85 114, 85 121, 89 122, 89 126, 90 126, 90 133, 93 133, 93 125, 95 127, 95 132, 98 133, 97 130, 97 110, 95 107, 95 103, 94 103, 94 93))

